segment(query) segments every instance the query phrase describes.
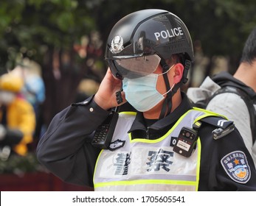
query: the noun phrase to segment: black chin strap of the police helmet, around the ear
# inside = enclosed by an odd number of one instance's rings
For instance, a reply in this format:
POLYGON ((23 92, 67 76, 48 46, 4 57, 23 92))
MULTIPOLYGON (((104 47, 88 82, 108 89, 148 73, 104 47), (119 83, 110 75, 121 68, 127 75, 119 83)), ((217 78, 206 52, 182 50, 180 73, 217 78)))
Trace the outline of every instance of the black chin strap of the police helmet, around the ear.
POLYGON ((189 60, 185 60, 185 66, 184 66, 184 72, 183 72, 182 79, 180 82, 178 82, 172 88, 170 88, 170 82, 167 77, 167 72, 165 72, 169 69, 169 65, 167 65, 167 63, 165 62, 164 59, 161 59, 160 65, 162 66, 163 73, 164 73, 163 77, 165 80, 166 90, 170 91, 170 92, 167 92, 167 96, 162 104, 162 110, 161 110, 159 119, 165 118, 165 116, 167 116, 167 114, 170 113, 172 106, 173 106, 173 103, 172 103, 173 95, 177 92, 177 90, 179 88, 181 88, 182 84, 185 84, 187 82, 187 73, 188 73, 188 70, 190 69, 191 62, 189 60))

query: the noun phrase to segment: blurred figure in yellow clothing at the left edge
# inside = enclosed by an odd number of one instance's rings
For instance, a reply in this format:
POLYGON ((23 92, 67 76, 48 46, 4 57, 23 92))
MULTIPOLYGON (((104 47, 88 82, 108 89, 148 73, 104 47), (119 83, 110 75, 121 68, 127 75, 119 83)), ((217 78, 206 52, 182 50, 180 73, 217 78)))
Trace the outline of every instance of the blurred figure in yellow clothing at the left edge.
POLYGON ((35 112, 20 95, 24 82, 13 74, 0 77, 0 159, 27 154, 27 144, 35 131, 35 112))

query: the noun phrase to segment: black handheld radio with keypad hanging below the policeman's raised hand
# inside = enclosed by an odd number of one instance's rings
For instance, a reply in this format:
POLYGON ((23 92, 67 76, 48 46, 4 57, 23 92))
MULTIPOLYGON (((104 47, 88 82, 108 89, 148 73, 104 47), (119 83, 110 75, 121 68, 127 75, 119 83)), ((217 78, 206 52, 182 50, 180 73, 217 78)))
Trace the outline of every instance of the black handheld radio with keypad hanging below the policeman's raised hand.
POLYGON ((105 121, 103 121, 103 124, 96 129, 94 138, 91 141, 93 146, 100 149, 108 149, 117 125, 118 109, 119 107, 116 107, 115 110, 112 110, 105 121))

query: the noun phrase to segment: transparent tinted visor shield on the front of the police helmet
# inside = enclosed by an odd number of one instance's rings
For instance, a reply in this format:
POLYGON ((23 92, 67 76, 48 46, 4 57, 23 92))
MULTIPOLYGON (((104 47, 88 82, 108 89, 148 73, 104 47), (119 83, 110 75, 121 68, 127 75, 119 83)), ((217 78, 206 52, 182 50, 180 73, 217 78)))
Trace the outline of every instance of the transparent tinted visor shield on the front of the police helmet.
POLYGON ((161 58, 154 54, 122 60, 108 60, 112 74, 119 79, 135 79, 156 71, 161 58))

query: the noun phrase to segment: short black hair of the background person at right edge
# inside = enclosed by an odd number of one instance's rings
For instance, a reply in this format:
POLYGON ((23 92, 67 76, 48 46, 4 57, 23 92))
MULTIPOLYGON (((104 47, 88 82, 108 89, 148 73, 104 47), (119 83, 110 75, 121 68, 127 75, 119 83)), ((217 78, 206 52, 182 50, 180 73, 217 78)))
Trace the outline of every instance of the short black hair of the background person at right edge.
POLYGON ((240 63, 252 64, 256 60, 256 27, 252 29, 243 47, 240 63))

